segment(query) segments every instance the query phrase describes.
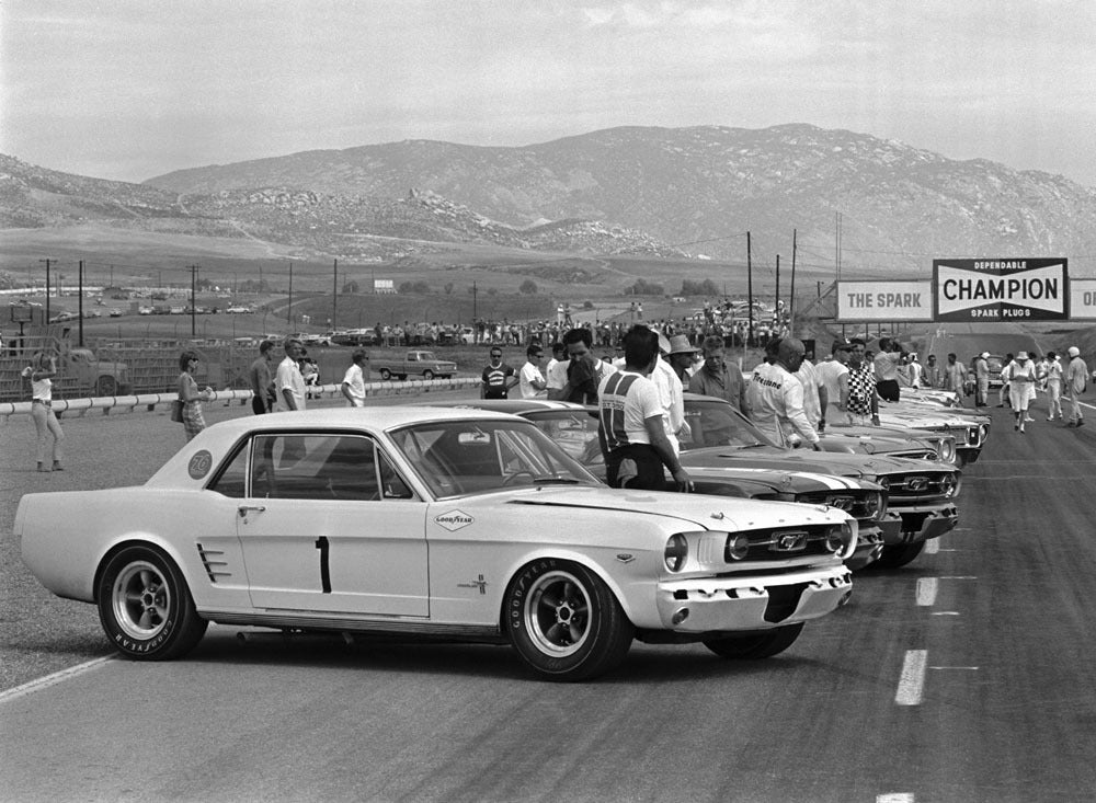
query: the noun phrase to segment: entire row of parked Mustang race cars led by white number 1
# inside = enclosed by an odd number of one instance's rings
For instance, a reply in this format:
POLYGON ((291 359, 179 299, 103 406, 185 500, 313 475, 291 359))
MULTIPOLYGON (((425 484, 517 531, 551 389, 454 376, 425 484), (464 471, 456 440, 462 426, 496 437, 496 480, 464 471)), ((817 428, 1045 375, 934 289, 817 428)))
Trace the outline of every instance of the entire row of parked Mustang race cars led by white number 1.
POLYGON ((985 415, 903 391, 823 451, 769 443, 686 394, 696 493, 614 490, 596 410, 541 400, 315 410, 208 427, 145 485, 27 494, 23 559, 98 606, 135 659, 190 652, 209 622, 510 644, 584 680, 635 640, 756 659, 954 529, 985 415))

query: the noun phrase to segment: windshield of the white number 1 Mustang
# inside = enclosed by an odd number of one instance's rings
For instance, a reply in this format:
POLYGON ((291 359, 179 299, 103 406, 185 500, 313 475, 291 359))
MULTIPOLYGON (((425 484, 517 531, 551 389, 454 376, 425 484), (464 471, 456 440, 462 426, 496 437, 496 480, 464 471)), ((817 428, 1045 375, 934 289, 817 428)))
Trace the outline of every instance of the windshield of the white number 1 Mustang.
POLYGON ((444 421, 392 433, 438 498, 544 484, 598 484, 535 426, 522 421, 444 421))

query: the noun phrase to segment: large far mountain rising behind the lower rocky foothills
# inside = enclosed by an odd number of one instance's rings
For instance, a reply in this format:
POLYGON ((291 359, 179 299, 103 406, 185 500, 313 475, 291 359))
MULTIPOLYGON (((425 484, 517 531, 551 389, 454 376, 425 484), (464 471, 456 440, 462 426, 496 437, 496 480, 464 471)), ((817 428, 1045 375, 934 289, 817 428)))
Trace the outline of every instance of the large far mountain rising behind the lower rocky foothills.
POLYGON ((522 148, 409 140, 184 170, 179 193, 255 186, 401 198, 420 187, 509 226, 600 220, 692 253, 741 259, 791 229, 844 259, 909 269, 921 255, 1093 253, 1096 191, 985 160, 956 161, 846 130, 785 125, 614 128, 522 148))

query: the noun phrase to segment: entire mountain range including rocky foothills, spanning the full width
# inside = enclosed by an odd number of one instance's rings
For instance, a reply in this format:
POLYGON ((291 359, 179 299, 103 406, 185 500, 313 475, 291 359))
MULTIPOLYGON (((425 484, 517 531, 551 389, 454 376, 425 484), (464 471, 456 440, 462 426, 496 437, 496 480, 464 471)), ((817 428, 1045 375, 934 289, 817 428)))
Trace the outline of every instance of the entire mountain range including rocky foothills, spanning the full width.
POLYGON ((456 243, 743 261, 746 231, 755 259, 790 259, 792 230, 801 260, 840 259, 849 275, 1039 255, 1073 256, 1076 273, 1096 253, 1092 187, 809 125, 612 128, 514 148, 407 140, 142 184, 0 157, 0 228, 89 220, 357 261, 456 243))

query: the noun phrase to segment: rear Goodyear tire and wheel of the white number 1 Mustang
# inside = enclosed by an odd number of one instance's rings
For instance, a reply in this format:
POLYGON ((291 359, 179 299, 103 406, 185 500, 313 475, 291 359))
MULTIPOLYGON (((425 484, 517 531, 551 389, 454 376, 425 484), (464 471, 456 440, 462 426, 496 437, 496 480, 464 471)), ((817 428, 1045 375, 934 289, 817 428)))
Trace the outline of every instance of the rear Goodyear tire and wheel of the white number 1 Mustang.
POLYGON ((205 634, 207 622, 194 610, 182 573, 151 547, 127 547, 113 555, 95 590, 103 630, 127 658, 178 658, 205 634))

